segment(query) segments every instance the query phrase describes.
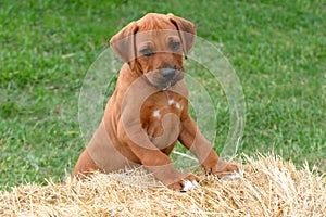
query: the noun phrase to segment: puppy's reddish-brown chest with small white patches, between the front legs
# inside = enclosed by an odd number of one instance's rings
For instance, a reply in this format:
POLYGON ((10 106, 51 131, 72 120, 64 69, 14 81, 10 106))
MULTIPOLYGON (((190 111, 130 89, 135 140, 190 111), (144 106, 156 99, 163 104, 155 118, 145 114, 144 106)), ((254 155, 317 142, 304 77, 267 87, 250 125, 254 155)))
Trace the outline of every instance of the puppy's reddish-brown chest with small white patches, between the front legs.
POLYGON ((185 99, 176 93, 151 95, 141 108, 141 124, 150 140, 161 149, 174 143, 180 133, 185 99))

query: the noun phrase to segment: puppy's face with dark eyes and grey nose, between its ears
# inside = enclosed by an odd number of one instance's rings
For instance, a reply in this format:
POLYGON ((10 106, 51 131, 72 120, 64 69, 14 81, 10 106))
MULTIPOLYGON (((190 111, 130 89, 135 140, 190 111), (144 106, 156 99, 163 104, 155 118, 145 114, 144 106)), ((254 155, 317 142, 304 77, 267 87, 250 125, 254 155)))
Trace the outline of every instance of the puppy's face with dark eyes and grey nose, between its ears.
POLYGON ((178 31, 140 31, 136 35, 136 64, 147 80, 158 89, 167 89, 184 78, 183 47, 178 31))

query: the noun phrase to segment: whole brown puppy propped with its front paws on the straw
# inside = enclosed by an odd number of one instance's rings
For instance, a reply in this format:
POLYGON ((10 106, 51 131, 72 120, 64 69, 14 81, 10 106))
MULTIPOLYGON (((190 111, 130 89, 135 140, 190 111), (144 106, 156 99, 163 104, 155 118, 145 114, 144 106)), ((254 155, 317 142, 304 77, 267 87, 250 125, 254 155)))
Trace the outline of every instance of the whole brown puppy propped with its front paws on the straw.
POLYGON ((125 62, 104 117, 73 176, 142 164, 168 188, 189 190, 193 175, 179 174, 168 154, 180 141, 204 169, 220 177, 238 166, 220 159, 189 115, 183 54, 195 43, 189 21, 150 13, 113 36, 113 51, 125 62))

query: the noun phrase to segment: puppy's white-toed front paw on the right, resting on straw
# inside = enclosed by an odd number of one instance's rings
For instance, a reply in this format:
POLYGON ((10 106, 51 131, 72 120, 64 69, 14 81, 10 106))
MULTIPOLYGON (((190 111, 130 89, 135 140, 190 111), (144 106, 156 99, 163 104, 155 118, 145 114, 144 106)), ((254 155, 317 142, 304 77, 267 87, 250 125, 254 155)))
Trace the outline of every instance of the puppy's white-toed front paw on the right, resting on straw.
POLYGON ((238 179, 241 174, 238 165, 226 163, 222 159, 218 159, 218 162, 211 168, 206 168, 206 173, 214 174, 220 179, 238 179))

